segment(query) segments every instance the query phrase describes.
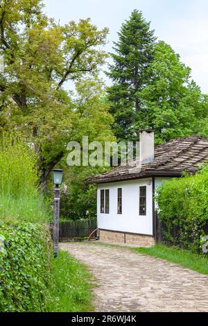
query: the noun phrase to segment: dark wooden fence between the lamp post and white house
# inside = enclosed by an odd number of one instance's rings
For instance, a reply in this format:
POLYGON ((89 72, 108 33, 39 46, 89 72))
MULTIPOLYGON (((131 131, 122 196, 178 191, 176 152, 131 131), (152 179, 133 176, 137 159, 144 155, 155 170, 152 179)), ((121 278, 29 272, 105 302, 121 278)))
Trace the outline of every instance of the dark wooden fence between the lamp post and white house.
POLYGON ((89 234, 96 228, 96 220, 60 222, 59 238, 64 240, 89 237, 89 234))

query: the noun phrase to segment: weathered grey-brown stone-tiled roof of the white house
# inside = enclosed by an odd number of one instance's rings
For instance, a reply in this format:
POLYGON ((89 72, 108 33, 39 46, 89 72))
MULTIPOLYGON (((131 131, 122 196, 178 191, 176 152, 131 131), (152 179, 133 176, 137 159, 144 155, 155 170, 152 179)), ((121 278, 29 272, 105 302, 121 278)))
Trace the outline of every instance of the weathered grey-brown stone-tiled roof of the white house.
MULTIPOLYGON (((139 160, 134 162, 139 163, 139 160)), ((190 136, 173 139, 155 148, 155 159, 139 164, 116 166, 114 169, 94 175, 87 183, 114 182, 151 176, 179 177, 183 171, 196 173, 202 163, 208 162, 208 139, 190 136)))

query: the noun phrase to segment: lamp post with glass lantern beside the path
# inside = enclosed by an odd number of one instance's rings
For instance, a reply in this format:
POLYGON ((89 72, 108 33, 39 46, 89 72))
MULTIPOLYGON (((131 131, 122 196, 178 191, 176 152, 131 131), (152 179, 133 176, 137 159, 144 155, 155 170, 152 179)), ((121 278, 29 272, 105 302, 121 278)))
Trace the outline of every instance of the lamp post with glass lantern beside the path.
POLYGON ((52 171, 54 188, 54 209, 53 209, 53 256, 58 256, 59 242, 59 215, 60 215, 60 188, 62 183, 63 170, 54 169, 52 171))

